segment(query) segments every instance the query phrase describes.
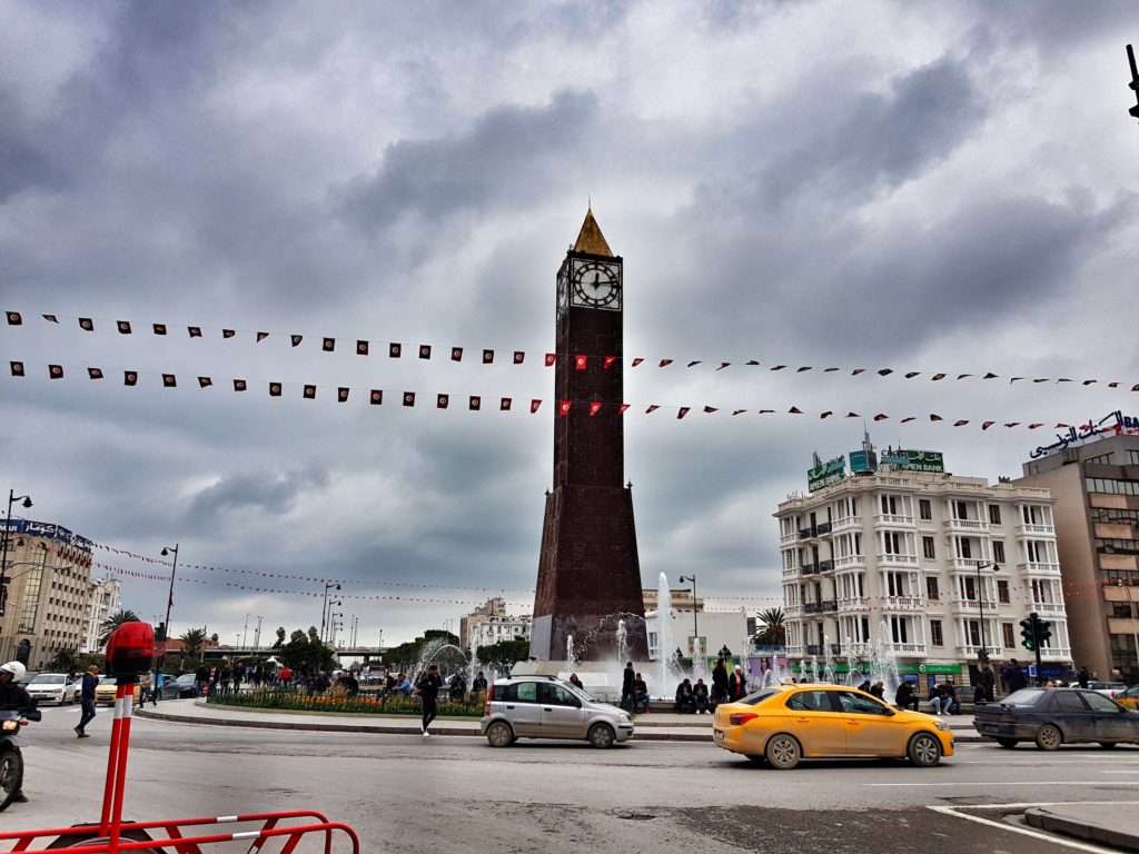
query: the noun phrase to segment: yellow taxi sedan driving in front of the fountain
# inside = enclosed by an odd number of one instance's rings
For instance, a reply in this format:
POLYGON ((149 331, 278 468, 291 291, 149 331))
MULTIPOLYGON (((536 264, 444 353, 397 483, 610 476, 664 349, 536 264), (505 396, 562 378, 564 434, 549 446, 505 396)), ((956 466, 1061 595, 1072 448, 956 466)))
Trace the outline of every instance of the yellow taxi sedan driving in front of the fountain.
POLYGON ((778 685, 721 703, 712 738, 716 747, 784 771, 800 759, 863 756, 932 767, 953 755, 953 733, 935 715, 833 684, 778 685))

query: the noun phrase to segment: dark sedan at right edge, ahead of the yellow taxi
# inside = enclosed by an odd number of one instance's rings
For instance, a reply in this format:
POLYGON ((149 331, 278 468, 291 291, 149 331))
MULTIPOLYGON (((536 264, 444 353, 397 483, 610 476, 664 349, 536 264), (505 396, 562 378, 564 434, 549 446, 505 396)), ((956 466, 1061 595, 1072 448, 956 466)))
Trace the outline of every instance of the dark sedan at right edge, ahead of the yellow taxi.
POLYGON ((1023 688, 976 711, 973 726, 1001 747, 1033 741, 1041 750, 1081 741, 1139 744, 1139 712, 1081 688, 1023 688))

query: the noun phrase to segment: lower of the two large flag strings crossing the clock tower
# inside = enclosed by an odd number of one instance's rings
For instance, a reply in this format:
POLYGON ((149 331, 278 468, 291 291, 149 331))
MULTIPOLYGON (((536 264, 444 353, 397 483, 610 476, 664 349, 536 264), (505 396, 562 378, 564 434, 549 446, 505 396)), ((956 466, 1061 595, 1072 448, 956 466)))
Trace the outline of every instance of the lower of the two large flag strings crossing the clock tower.
MULTIPOLYGON (((11 369, 13 377, 16 378, 27 377, 27 366, 24 362, 11 361, 9 362, 9 366, 11 369)), ((47 368, 48 368, 49 379, 65 379, 67 377, 68 369, 64 364, 48 364, 47 368)), ((108 375, 101 368, 87 368, 87 377, 90 380, 95 381, 103 380, 106 379, 107 376, 108 375)), ((149 372, 144 373, 141 371, 136 371, 136 370, 125 370, 123 371, 123 385, 132 387, 138 386, 139 380, 142 376, 149 376, 149 372)), ((179 387, 178 375, 161 373, 159 376, 162 377, 162 386, 164 388, 179 387)), ((197 376, 194 379, 196 379, 197 386, 199 388, 211 388, 214 386, 213 377, 197 376)), ((267 383, 265 380, 230 379, 227 380, 227 384, 228 383, 232 384, 232 388, 237 393, 248 392, 254 385, 267 387, 270 397, 282 397, 286 388, 295 389, 295 387, 300 385, 302 389, 301 396, 303 400, 317 400, 320 388, 325 387, 325 386, 319 386, 317 384, 294 384, 294 383, 282 383, 277 380, 269 380, 267 383)), ((191 386, 192 386, 192 380, 191 380, 191 386)), ((352 396, 352 392, 362 392, 367 396, 368 402, 374 407, 383 405, 385 402, 385 396, 384 396, 385 389, 383 388, 361 388, 359 386, 337 385, 335 386, 335 389, 336 389, 336 401, 338 403, 347 403, 350 397, 352 396)), ((484 395, 477 395, 477 394, 472 394, 472 395, 452 395, 450 393, 424 394, 418 391, 403 391, 399 393, 398 400, 402 407, 408 407, 408 408, 413 408, 417 405, 417 403, 421 403, 426 400, 428 407, 431 407, 432 402, 434 402, 435 409, 450 409, 452 401, 457 402, 457 408, 461 408, 464 397, 466 399, 467 410, 473 412, 482 411, 483 409, 497 409, 499 412, 515 411, 514 397, 498 397, 495 401, 495 399, 493 397, 484 397, 484 395), (484 402, 486 404, 485 407, 484 402)), ((388 397, 388 401, 390 400, 391 397, 388 397)), ((519 403, 523 404, 523 407, 528 405, 530 413, 536 414, 541 409, 542 403, 544 403, 544 400, 540 397, 532 397, 528 399, 528 404, 527 404, 526 399, 522 399, 519 400, 519 403)), ((571 412, 577 411, 577 412, 588 412, 590 417, 596 417, 598 414, 601 414, 603 412, 606 414, 615 412, 617 416, 624 416, 626 412, 629 412, 629 410, 633 409, 634 407, 634 404, 632 403, 612 403, 605 401, 582 401, 582 400, 559 400, 556 401, 556 405, 557 405, 557 413, 559 416, 568 416, 571 412)), ((645 404, 641 403, 636 405, 639 411, 640 407, 645 404)), ((907 414, 901 417, 892 416, 886 412, 876 412, 874 414, 870 414, 869 412, 854 412, 853 410, 849 410, 845 414, 842 414, 842 412, 836 412, 834 410, 825 410, 821 412, 818 411, 809 412, 806 410, 800 409, 798 407, 790 407, 787 410, 782 409, 777 410, 777 409, 712 407, 708 404, 704 404, 703 407, 699 405, 682 407, 678 404, 649 403, 648 405, 645 405, 644 412, 645 414, 653 414, 654 412, 657 412, 659 410, 665 410, 669 412, 675 411, 678 419, 687 417, 690 412, 695 410, 696 412, 702 414, 723 413, 730 416, 741 416, 741 414, 816 416, 819 419, 827 419, 834 417, 834 418, 869 419, 871 421, 896 420, 899 424, 909 424, 911 421, 928 419, 931 422, 944 421, 947 425, 950 425, 952 427, 966 427, 968 425, 977 425, 982 430, 988 430, 991 427, 998 425, 1003 426, 1007 429, 1022 427, 1024 429, 1035 430, 1041 427, 1048 427, 1049 425, 1048 421, 1026 421, 1026 420, 1002 421, 1000 419, 985 420, 977 418, 953 418, 953 417, 942 416, 936 412, 928 412, 920 416, 907 414)), ((1056 422, 1054 429, 1067 429, 1072 426, 1073 425, 1071 424, 1058 421, 1056 422)), ((1115 425, 1112 429, 1114 429, 1115 433, 1117 434, 1139 433, 1139 428, 1126 427, 1122 421, 1115 425)))

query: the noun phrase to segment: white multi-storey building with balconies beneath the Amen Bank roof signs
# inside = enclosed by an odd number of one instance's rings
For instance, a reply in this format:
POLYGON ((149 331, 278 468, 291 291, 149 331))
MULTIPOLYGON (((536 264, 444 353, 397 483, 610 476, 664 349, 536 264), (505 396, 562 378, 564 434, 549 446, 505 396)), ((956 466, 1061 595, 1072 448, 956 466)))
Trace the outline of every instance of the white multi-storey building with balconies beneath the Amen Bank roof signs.
POLYGON ((776 514, 790 659, 829 655, 841 672, 893 654, 902 674, 962 682, 984 651, 1031 662, 1019 622, 1036 611, 1046 672, 1071 664, 1047 490, 888 465, 842 474, 776 514))

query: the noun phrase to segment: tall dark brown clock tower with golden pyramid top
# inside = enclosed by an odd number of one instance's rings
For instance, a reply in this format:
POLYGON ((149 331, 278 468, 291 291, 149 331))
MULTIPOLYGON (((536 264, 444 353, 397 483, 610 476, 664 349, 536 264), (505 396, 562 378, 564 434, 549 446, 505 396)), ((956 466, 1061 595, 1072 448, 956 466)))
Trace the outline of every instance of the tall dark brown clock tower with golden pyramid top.
POLYGON ((530 655, 648 660, 632 486, 624 483, 621 404, 623 262, 592 210, 557 277, 554 486, 546 495, 530 655), (568 402, 568 411, 563 404, 568 402))

